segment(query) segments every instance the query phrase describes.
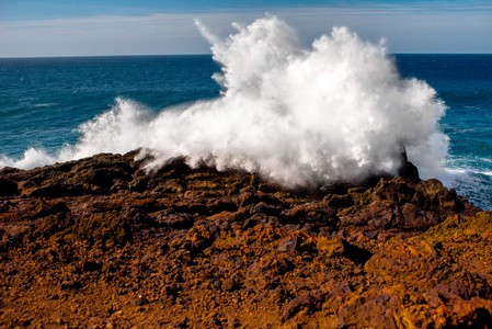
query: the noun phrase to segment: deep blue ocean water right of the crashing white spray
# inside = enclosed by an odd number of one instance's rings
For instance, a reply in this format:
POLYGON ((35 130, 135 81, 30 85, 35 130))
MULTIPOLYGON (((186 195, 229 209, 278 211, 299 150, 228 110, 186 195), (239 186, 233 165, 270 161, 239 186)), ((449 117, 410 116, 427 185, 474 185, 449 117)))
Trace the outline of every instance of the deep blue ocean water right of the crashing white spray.
POLYGON ((397 55, 404 77, 425 80, 446 106, 446 185, 492 208, 492 55, 397 55))

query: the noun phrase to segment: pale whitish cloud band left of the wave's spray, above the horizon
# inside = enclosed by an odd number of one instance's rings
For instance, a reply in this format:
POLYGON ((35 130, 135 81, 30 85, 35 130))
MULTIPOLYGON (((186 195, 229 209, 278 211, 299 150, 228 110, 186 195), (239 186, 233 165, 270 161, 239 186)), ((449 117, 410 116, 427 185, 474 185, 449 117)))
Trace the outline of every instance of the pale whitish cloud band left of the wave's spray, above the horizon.
POLYGON ((193 16, 96 16, 0 23, 0 56, 207 53, 193 16))

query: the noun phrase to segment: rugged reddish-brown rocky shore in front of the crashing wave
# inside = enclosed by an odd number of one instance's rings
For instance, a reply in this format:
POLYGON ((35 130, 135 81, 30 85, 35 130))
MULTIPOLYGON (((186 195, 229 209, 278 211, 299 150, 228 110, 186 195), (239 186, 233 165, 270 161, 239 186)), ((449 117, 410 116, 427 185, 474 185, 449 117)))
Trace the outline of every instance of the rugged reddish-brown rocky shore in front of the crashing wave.
POLYGON ((134 156, 0 171, 1 328, 492 328, 492 213, 411 167, 307 192, 134 156))

